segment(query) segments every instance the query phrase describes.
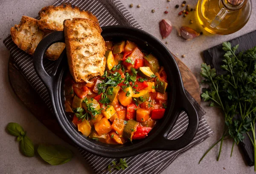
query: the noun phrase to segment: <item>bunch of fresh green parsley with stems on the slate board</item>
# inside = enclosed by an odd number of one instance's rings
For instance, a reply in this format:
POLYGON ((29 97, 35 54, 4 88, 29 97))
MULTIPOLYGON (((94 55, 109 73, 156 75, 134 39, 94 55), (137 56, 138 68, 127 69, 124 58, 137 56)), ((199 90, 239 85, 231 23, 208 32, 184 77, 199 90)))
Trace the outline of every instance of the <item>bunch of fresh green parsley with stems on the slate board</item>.
MULTIPOLYGON (((201 64, 201 76, 205 78, 202 82, 208 84, 208 88, 203 89, 201 97, 204 101, 209 101, 210 106, 221 108, 224 113, 224 132, 218 141, 221 142, 221 145, 217 160, 220 157, 225 139, 233 139, 231 157, 234 145, 243 141, 244 133, 248 134, 249 131, 253 131, 253 138, 249 134, 248 136, 254 149, 256 149, 254 131, 256 118, 256 47, 236 54, 239 45, 232 47, 229 42, 224 42, 222 45, 226 53, 221 68, 226 71, 226 74, 216 75, 215 69, 211 69, 207 64, 201 64)), ((254 156, 256 157, 256 152, 254 152, 254 156)), ((256 170, 256 165, 254 166, 256 170)))

